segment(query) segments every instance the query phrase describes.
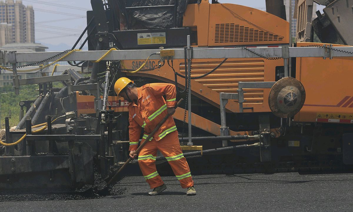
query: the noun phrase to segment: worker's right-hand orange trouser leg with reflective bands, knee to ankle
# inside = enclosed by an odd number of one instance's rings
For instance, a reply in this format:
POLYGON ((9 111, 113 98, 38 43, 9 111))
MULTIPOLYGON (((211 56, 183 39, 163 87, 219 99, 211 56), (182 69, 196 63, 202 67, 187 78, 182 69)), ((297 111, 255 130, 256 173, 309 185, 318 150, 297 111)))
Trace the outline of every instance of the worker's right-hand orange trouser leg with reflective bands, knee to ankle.
POLYGON ((188 188, 193 186, 189 165, 180 148, 178 131, 171 132, 163 139, 157 141, 157 147, 168 160, 181 187, 188 188))

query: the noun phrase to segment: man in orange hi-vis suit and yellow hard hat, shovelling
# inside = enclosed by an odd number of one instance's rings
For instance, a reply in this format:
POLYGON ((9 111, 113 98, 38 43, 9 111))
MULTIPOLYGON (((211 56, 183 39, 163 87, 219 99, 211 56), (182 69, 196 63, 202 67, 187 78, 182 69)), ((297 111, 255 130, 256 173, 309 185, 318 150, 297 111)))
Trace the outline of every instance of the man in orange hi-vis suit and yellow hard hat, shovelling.
MULTIPOLYGON (((175 101, 176 89, 173 84, 169 83, 150 83, 138 88, 133 81, 121 77, 115 82, 114 90, 118 96, 130 102, 128 105, 129 155, 135 158, 142 128, 144 128, 143 142, 167 114, 174 114, 174 107, 177 103, 175 101), (166 100, 163 95, 166 96, 166 100)), ((164 122, 138 153, 138 164, 142 174, 153 189, 148 193, 149 195, 160 194, 167 188, 156 170, 157 150, 167 159, 181 187, 187 188, 186 195, 196 195, 189 165, 181 151, 177 127, 172 116, 164 122)))

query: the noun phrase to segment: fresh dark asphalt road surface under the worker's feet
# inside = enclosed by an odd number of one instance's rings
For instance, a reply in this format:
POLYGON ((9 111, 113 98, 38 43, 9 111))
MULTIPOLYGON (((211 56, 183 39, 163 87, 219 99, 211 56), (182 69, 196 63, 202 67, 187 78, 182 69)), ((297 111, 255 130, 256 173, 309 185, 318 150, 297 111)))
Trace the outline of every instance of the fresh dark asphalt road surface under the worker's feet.
POLYGON ((142 176, 125 177, 122 195, 100 199, 0 202, 1 211, 353 211, 353 174, 292 173, 198 175, 196 196, 175 177, 163 177, 161 195, 148 196, 142 176))

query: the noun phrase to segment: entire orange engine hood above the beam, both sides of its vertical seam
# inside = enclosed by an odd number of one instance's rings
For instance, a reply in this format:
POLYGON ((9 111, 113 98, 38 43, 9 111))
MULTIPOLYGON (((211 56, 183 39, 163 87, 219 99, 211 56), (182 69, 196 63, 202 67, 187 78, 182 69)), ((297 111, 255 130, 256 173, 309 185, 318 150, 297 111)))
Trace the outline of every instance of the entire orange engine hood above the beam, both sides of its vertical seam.
POLYGON ((198 46, 288 44, 289 23, 273 14, 235 4, 187 5, 184 27, 197 31, 198 46))

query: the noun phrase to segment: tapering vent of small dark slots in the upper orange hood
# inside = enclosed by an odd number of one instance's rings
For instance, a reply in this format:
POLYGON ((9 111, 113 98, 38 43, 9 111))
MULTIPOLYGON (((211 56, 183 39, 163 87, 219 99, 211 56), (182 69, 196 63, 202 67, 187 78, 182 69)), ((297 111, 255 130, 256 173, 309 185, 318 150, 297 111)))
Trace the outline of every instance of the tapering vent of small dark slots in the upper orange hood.
POLYGON ((274 35, 238 24, 216 24, 215 43, 281 41, 282 36, 274 35))

